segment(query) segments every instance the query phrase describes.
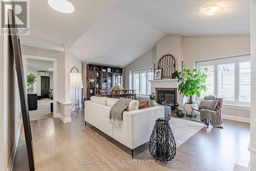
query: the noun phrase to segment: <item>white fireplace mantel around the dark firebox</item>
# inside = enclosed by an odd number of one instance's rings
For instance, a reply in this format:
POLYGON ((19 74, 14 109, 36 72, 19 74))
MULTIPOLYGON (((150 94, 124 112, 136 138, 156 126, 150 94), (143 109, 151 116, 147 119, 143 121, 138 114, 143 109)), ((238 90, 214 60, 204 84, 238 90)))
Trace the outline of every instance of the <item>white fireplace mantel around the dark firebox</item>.
POLYGON ((178 79, 158 79, 158 80, 148 80, 151 82, 151 92, 156 93, 156 88, 175 88, 177 89, 177 101, 180 104, 179 109, 183 109, 183 104, 188 102, 188 98, 180 94, 178 90, 178 79))

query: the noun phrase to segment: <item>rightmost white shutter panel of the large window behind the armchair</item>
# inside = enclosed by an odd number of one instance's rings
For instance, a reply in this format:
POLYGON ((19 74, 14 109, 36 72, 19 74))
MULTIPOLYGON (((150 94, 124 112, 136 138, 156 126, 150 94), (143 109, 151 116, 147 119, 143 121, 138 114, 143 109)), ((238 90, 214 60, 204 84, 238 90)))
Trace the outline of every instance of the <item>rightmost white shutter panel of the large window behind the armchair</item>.
POLYGON ((239 63, 239 101, 250 102, 250 62, 239 63))

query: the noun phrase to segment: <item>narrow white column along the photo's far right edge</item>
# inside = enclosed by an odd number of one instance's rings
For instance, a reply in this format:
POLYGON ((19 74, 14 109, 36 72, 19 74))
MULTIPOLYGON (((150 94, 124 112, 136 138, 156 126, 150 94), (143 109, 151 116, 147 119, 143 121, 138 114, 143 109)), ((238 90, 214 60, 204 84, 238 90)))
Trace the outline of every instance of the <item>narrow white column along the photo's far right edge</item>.
POLYGON ((256 0, 251 0, 250 170, 256 170, 256 0))

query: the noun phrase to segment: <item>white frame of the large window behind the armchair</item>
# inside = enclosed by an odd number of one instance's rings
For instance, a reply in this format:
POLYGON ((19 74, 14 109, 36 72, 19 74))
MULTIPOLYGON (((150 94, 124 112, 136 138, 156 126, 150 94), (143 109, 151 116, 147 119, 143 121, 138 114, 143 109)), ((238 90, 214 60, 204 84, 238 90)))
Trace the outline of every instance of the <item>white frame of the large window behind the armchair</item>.
MULTIPOLYGON (((224 104, 231 105, 250 105, 250 102, 239 101, 239 63, 250 61, 250 55, 233 56, 220 59, 211 59, 206 61, 197 61, 196 68, 200 70, 204 66, 214 66, 214 95, 218 97, 218 65, 234 63, 234 101, 223 100, 224 104)), ((195 98, 196 101, 201 101, 200 97, 195 98)))

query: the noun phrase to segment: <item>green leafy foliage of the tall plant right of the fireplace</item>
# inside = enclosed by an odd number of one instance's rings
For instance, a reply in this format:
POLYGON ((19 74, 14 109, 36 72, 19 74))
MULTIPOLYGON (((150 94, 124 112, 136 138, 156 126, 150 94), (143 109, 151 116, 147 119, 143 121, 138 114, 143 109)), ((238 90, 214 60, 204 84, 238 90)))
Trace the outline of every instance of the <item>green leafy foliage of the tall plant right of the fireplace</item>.
POLYGON ((183 73, 179 72, 179 91, 183 94, 183 97, 189 96, 189 104, 193 104, 192 96, 197 95, 200 97, 200 91, 206 91, 205 81, 207 78, 208 68, 204 68, 203 71, 194 69, 192 72, 184 68, 183 73))

